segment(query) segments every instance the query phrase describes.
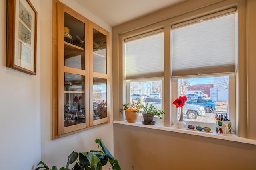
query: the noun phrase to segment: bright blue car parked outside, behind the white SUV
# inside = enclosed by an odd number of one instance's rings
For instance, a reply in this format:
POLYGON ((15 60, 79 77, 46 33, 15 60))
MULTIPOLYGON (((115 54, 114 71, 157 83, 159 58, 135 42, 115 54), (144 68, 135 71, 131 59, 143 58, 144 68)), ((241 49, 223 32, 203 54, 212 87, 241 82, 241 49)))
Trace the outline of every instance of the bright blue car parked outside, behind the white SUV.
POLYGON ((208 113, 211 113, 213 110, 216 109, 216 103, 214 103, 212 100, 207 99, 192 99, 186 102, 186 104, 197 104, 204 107, 205 111, 208 113))

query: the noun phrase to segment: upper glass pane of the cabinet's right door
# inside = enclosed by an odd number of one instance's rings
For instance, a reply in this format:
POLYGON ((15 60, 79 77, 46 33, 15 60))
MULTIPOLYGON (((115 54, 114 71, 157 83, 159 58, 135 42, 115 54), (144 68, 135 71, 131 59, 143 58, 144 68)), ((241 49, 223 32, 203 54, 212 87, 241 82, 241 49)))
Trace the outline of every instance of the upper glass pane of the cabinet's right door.
POLYGON ((93 72, 107 74, 107 36, 93 29, 93 72))

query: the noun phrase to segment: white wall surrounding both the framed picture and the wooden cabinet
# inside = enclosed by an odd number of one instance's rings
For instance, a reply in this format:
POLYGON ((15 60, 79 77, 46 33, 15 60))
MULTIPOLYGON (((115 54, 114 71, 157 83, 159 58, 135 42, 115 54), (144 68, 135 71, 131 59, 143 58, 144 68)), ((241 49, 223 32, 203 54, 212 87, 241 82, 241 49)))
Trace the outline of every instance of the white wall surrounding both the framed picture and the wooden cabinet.
MULTIPOLYGON (((0 169, 34 170, 40 160, 60 168, 66 166, 67 156, 73 150, 96 150, 96 138, 102 138, 113 153, 112 123, 51 139, 52 107, 55 107, 52 106, 52 0, 30 2, 38 12, 36 76, 5 66, 6 0, 0 1, 0 169)), ((73 1, 62 2, 109 31, 111 37, 109 25, 73 1)))

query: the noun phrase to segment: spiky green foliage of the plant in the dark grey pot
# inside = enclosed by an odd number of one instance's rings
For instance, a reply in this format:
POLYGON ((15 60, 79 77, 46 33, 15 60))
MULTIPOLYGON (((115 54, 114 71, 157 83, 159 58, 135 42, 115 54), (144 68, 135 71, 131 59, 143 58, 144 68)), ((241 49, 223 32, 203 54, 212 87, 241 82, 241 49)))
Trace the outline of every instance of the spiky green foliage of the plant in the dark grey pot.
POLYGON ((158 116, 160 119, 162 119, 161 115, 164 114, 164 111, 156 108, 153 104, 142 104, 140 101, 138 101, 138 107, 140 109, 134 111, 134 112, 141 112, 141 113, 145 113, 145 114, 154 114, 156 116, 158 116))

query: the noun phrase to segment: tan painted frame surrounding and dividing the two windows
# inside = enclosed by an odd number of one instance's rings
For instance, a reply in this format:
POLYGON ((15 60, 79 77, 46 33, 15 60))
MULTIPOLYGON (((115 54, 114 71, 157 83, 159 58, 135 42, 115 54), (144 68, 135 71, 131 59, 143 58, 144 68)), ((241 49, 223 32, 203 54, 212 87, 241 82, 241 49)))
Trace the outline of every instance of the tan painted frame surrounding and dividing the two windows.
MULTIPOLYGON (((244 0, 227 0, 223 2, 218 2, 216 4, 212 4, 210 2, 202 3, 202 4, 193 4, 190 2, 185 2, 182 6, 186 7, 182 8, 182 10, 176 9, 176 6, 171 6, 170 8, 166 8, 166 10, 162 10, 156 12, 153 15, 148 15, 142 18, 139 18, 134 21, 130 21, 128 23, 118 25, 113 27, 113 89, 114 91, 113 102, 117 103, 117 105, 113 106, 114 111, 114 120, 124 120, 124 115, 119 112, 119 109, 122 108, 122 99, 124 98, 124 61, 122 57, 124 56, 124 39, 136 35, 140 35, 142 33, 146 33, 148 31, 164 28, 164 84, 162 86, 168 87, 165 88, 164 94, 162 94, 162 98, 164 98, 164 111, 167 113, 164 117, 164 126, 171 126, 171 105, 172 102, 172 77, 171 71, 168 68, 170 65, 170 30, 171 25, 176 23, 180 23, 183 21, 192 20, 194 18, 206 16, 208 14, 212 14, 215 12, 220 12, 222 10, 226 10, 229 8, 237 8, 237 19, 236 19, 236 40, 237 40, 237 61, 236 65, 236 79, 235 81, 235 118, 236 118, 236 135, 239 137, 246 137, 247 129, 246 126, 252 127, 253 125, 246 125, 248 112, 247 112, 247 97, 250 95, 246 91, 246 1, 244 0), (164 15, 159 17, 160 14, 164 15), (152 16, 156 16, 153 20, 151 20, 152 16), (116 68, 115 68, 116 67, 116 68), (170 81, 169 81, 170 80, 170 81), (238 121, 239 120, 239 121, 238 121), (238 129, 239 126, 239 129, 238 129)), ((180 4, 178 4, 180 6, 180 4)), ((251 114, 251 113, 249 113, 251 114)), ((250 116, 250 115, 249 115, 250 116)), ((249 121, 251 122, 251 121, 249 121)), ((254 137, 254 136, 252 136, 254 137)))

